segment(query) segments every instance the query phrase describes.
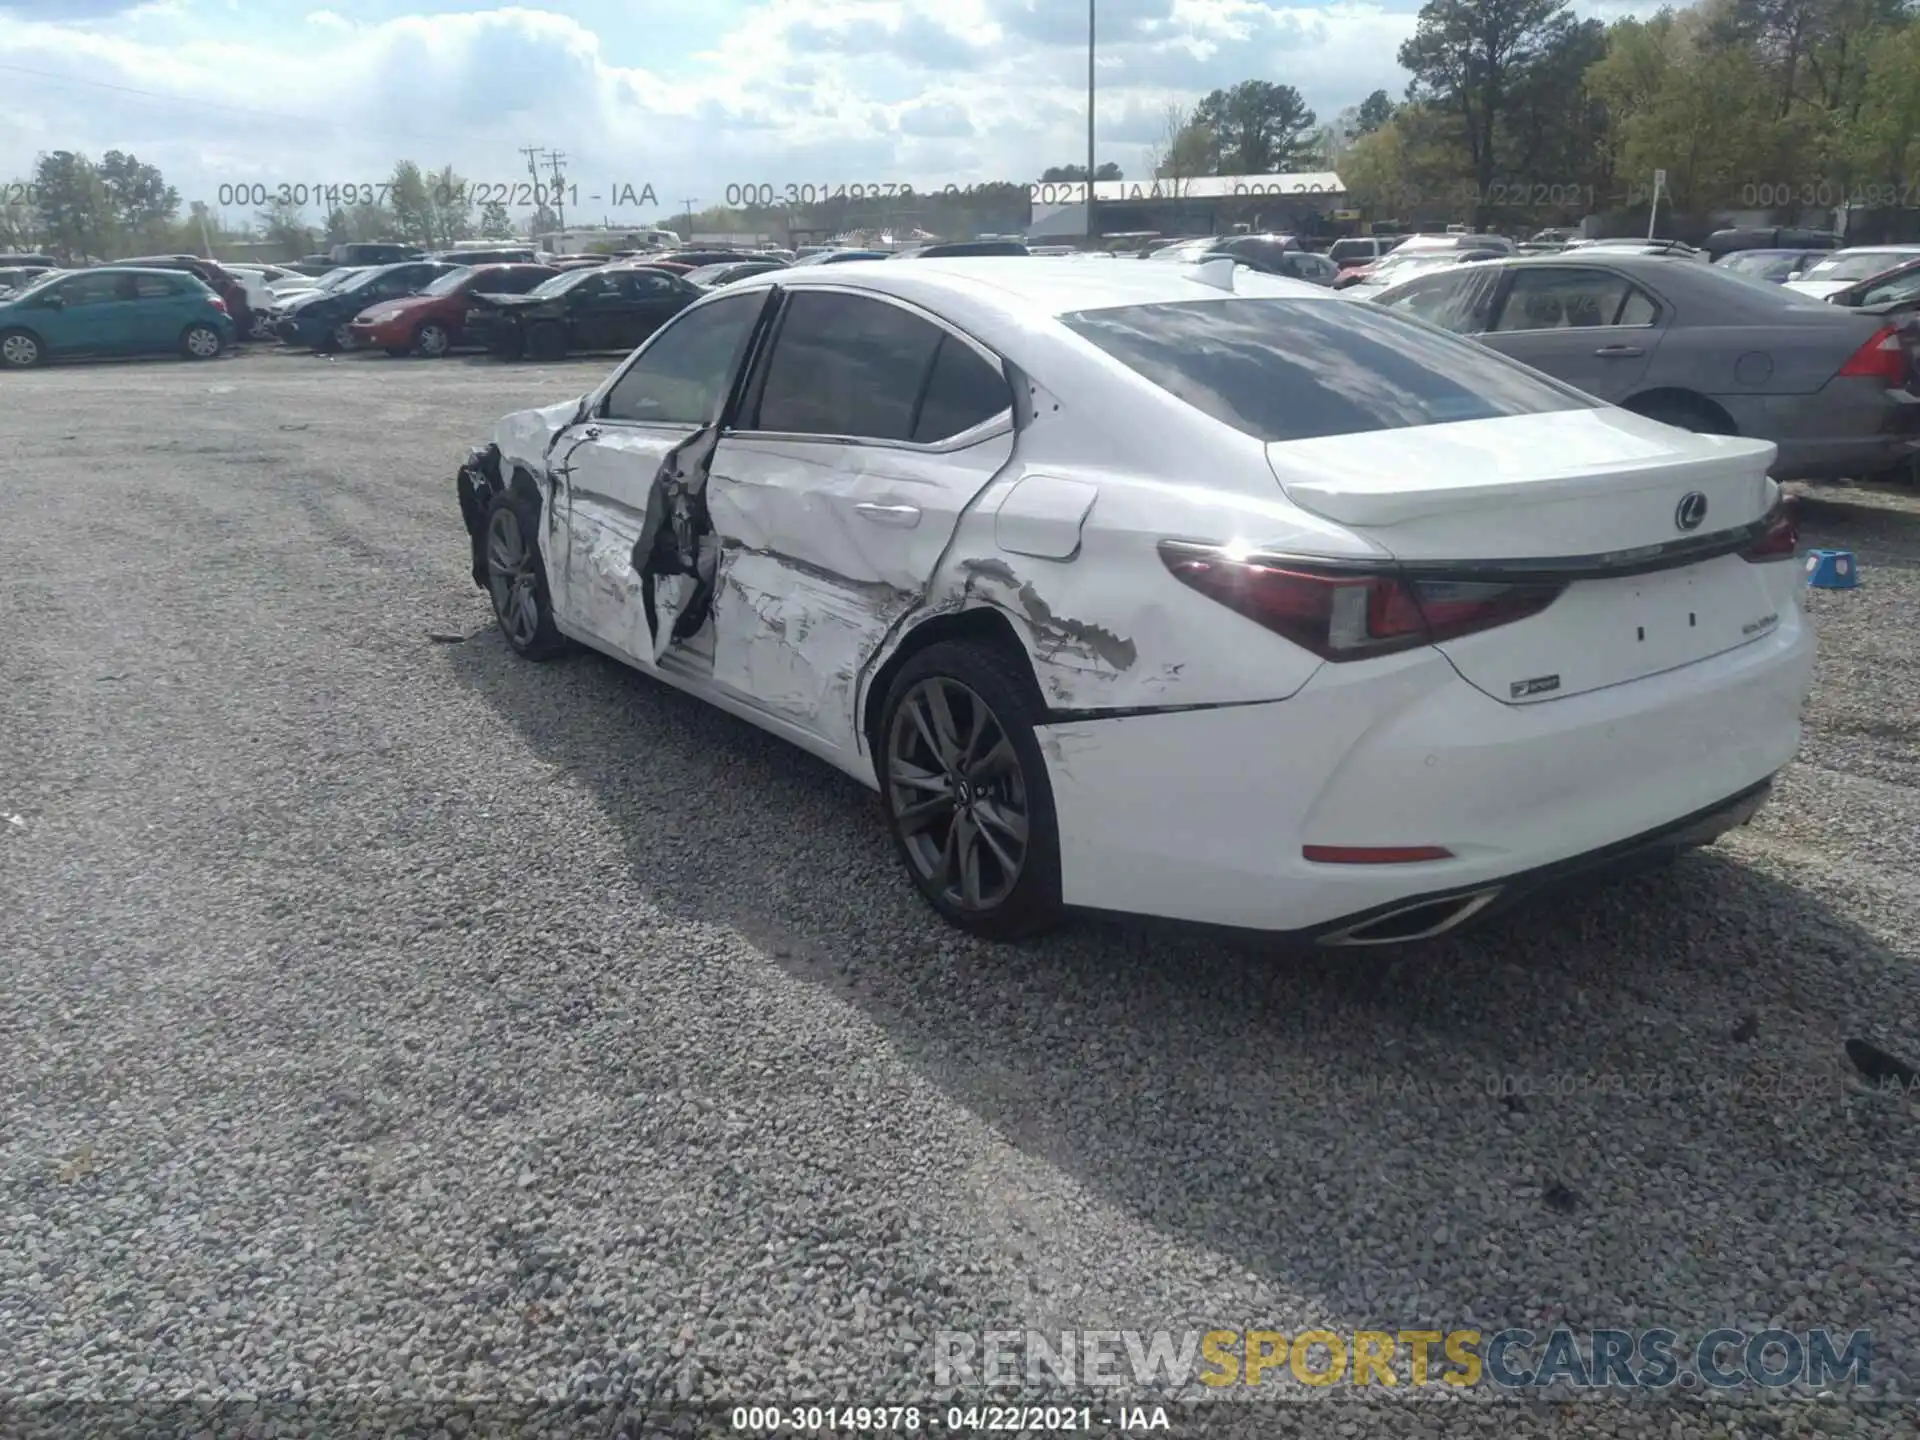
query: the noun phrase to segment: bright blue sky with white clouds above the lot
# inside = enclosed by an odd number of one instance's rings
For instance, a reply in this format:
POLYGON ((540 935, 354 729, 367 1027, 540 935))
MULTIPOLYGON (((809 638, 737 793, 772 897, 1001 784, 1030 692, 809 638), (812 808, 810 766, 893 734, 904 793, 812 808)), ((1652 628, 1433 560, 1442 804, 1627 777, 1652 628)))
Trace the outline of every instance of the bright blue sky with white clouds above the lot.
MULTIPOLYGON (((1417 8, 1098 0, 1098 157, 1144 175, 1169 102, 1246 77, 1321 119, 1398 98, 1417 8)), ((745 182, 1031 180, 1085 157, 1085 0, 0 0, 0 180, 119 148, 217 205, 399 157, 520 180, 541 146, 607 211, 570 221, 637 223, 745 182), (611 209, 645 184, 659 211, 611 209)))

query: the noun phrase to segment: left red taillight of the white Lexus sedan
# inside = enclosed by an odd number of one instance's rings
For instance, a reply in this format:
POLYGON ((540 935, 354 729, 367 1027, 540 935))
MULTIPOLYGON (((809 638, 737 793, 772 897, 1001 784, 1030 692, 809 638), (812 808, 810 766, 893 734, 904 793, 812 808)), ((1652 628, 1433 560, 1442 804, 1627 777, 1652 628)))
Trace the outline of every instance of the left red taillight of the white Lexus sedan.
POLYGON ((1524 620, 1565 589, 1321 570, 1171 541, 1160 559, 1181 584, 1327 660, 1394 655, 1524 620))

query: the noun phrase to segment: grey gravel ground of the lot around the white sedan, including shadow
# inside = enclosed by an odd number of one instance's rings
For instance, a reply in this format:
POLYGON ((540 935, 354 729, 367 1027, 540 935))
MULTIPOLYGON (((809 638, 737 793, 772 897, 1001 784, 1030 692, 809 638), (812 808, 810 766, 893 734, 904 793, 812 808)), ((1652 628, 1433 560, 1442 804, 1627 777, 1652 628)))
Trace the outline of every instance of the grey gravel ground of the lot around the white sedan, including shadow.
POLYGON ((0 382, 0 1398, 726 1430, 935 1400, 941 1329, 1780 1323, 1870 1327, 1872 1394, 1233 1413, 1920 1434, 1920 1106, 1841 1048, 1920 1056, 1920 503, 1822 492, 1866 584, 1811 595, 1801 760, 1668 874, 1400 958, 1000 950, 824 766, 507 653, 453 467, 603 371, 0 382))

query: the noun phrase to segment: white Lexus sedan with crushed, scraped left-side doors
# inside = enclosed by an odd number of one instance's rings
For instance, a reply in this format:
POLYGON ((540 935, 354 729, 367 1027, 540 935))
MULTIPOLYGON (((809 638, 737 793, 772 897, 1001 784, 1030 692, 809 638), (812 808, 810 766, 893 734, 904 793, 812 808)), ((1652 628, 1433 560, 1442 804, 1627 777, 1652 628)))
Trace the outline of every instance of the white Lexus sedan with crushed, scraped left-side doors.
POLYGON ((457 488, 515 651, 877 789, 956 925, 1382 945, 1759 808, 1772 459, 1231 261, 996 257, 732 284, 457 488))

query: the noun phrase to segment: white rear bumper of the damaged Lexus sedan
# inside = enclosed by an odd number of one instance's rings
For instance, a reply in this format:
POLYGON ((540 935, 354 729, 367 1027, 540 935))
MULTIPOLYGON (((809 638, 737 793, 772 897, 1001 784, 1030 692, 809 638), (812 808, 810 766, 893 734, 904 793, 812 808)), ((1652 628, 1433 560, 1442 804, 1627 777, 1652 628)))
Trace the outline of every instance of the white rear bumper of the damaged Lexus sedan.
POLYGON ((1430 897, 1505 902, 1676 845, 1659 837, 1763 785, 1799 749, 1811 668, 1793 607, 1724 655, 1548 703, 1413 651, 1323 666, 1286 701, 1044 726, 1064 899, 1315 939, 1430 897), (1315 864, 1304 845, 1452 858, 1315 864))

